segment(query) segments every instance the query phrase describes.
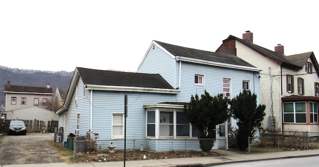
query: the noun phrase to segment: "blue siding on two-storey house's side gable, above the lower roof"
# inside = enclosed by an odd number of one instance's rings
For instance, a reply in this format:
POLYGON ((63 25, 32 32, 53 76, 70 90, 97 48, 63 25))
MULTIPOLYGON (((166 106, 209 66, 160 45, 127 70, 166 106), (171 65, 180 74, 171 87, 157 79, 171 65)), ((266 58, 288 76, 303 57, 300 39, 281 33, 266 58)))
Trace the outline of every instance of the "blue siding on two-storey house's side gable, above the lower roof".
POLYGON ((170 85, 177 87, 176 61, 158 46, 151 47, 138 73, 160 74, 170 85))

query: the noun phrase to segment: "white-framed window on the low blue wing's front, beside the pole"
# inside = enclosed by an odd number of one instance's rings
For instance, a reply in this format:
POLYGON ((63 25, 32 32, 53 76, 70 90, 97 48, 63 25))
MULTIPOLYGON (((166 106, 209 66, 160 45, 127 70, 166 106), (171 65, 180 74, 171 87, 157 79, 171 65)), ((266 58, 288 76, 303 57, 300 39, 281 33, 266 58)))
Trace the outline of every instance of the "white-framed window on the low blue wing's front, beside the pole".
POLYGON ((124 114, 112 114, 112 139, 124 138, 124 114))

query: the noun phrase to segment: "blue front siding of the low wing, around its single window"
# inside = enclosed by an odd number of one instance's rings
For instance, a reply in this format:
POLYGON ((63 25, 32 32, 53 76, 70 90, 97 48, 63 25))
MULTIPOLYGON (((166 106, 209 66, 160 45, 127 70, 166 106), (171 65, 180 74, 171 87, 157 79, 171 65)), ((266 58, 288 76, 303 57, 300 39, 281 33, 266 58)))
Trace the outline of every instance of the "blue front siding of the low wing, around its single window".
POLYGON ((112 113, 124 113, 125 94, 128 94, 127 139, 140 139, 146 136, 144 104, 175 101, 174 94, 94 90, 92 132, 99 133, 100 139, 111 139, 112 113))

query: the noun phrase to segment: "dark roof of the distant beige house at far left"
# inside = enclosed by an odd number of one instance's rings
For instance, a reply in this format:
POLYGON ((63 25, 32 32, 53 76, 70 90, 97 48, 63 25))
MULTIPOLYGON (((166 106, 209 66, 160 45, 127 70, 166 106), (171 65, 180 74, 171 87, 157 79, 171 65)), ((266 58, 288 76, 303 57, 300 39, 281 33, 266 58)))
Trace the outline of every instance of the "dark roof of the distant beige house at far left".
POLYGON ((18 86, 18 85, 4 85, 4 91, 11 92, 27 92, 27 93, 52 93, 52 88, 47 87, 35 87, 35 86, 18 86))

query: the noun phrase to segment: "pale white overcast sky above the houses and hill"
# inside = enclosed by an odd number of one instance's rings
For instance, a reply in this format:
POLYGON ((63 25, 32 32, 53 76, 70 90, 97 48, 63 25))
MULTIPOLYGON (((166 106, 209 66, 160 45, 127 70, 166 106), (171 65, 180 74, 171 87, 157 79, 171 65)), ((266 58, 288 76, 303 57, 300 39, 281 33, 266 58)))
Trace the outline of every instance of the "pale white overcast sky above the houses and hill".
POLYGON ((1 0, 0 66, 135 72, 153 40, 216 51, 246 30, 254 43, 319 60, 316 0, 1 0), (218 2, 217 2, 218 1, 218 2))

